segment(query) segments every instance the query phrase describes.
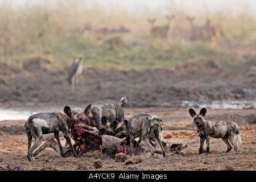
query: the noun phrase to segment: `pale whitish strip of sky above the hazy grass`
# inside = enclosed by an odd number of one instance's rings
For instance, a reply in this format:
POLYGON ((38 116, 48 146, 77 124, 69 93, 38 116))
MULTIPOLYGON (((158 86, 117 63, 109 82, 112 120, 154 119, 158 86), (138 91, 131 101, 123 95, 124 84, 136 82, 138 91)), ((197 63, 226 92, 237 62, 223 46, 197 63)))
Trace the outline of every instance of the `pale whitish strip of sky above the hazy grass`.
MULTIPOLYGON (((0 0, 5 1, 5 0, 0 0)), ((27 0, 8 0, 14 6, 22 5, 27 0)), ((57 1, 70 0, 30 0, 29 3, 55 3, 57 1)), ((83 1, 83 0, 76 0, 83 1)), ((246 12, 256 17, 256 0, 93 0, 86 1, 90 4, 97 3, 106 9, 126 9, 131 13, 138 13, 144 10, 161 10, 167 11, 167 7, 175 6, 188 11, 188 13, 197 13, 198 11, 225 11, 240 13, 246 9, 246 12)))

